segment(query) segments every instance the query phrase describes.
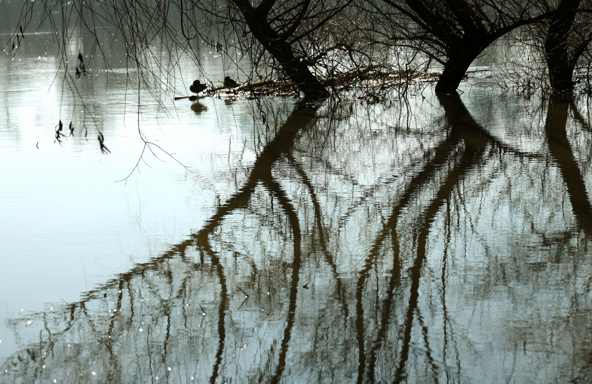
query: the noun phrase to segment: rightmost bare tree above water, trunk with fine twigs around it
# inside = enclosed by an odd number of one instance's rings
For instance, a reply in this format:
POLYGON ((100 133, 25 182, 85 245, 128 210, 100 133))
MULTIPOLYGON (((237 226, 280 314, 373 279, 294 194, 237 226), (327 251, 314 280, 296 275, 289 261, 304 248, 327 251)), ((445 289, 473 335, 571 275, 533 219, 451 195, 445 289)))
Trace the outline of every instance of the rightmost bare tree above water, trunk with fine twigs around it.
POLYGON ((555 100, 571 98, 575 87, 589 89, 590 5, 562 0, 549 18, 504 37, 496 85, 524 94, 542 91, 555 100))

